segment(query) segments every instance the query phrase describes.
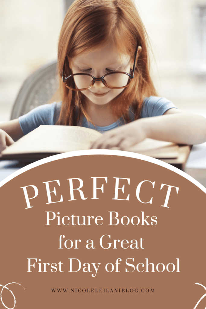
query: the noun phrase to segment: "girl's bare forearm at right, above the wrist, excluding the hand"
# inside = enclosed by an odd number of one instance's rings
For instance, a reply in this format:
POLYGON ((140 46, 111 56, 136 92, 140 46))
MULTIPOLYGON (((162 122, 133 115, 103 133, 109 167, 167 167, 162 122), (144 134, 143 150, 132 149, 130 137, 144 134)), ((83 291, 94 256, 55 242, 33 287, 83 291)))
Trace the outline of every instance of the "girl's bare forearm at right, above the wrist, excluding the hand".
POLYGON ((137 120, 146 137, 179 144, 206 141, 206 119, 200 115, 175 113, 137 120))

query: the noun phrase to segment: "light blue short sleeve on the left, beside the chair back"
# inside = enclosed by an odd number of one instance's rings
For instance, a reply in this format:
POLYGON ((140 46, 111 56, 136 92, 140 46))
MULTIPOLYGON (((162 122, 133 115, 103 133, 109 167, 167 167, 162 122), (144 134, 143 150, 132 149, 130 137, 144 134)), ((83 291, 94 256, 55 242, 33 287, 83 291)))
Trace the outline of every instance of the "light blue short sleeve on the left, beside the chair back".
POLYGON ((38 106, 19 117, 20 127, 26 135, 40 125, 55 125, 61 110, 61 102, 38 106))

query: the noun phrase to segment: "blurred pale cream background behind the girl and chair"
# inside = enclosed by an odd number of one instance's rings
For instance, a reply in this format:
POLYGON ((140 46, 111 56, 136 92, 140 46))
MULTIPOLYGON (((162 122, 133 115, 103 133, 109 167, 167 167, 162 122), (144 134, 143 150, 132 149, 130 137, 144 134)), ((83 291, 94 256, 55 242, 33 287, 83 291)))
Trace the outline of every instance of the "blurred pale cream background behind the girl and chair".
MULTIPOLYGON (((0 1, 0 121, 25 78, 57 58, 72 0, 0 1)), ((206 116, 206 0, 135 0, 150 37, 159 94, 206 116)))

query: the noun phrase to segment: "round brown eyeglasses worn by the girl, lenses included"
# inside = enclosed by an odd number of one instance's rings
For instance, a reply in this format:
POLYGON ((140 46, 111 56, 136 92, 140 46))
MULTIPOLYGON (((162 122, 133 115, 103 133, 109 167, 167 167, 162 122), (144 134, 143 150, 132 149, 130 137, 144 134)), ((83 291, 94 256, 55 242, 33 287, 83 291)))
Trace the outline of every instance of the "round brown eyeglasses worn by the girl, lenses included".
POLYGON ((137 48, 135 51, 133 69, 130 70, 130 74, 118 71, 118 72, 109 72, 103 75, 102 77, 94 77, 87 73, 75 73, 66 76, 65 74, 66 57, 65 57, 64 66, 62 70, 62 81, 63 83, 65 83, 65 86, 67 88, 76 91, 88 90, 94 85, 96 81, 101 81, 104 84, 104 86, 110 89, 126 88, 131 83, 132 78, 134 78, 138 45, 139 44, 137 44, 137 48), (68 86, 67 83, 70 86, 68 86))

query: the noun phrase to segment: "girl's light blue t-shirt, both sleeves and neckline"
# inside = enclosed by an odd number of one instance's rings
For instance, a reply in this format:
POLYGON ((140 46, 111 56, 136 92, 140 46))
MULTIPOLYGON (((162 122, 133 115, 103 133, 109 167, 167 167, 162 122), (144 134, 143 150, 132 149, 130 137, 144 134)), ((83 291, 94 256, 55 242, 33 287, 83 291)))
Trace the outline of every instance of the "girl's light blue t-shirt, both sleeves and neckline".
MULTIPOLYGON (((150 96, 144 99, 140 117, 161 116, 170 108, 176 108, 171 101, 165 98, 150 96)), ((27 114, 20 116, 19 123, 24 135, 38 128, 40 125, 55 125, 59 118, 60 110, 61 102, 54 102, 52 104, 45 104, 36 107, 27 114)), ((130 109, 129 118, 131 121, 134 121, 134 113, 132 109, 130 109)), ((88 123, 85 117, 83 117, 81 123, 82 127, 95 129, 101 133, 117 128, 120 125, 124 125, 124 120, 122 118, 105 127, 99 127, 98 125, 94 126, 91 123, 88 123)))

